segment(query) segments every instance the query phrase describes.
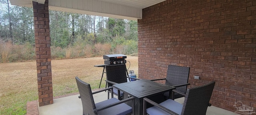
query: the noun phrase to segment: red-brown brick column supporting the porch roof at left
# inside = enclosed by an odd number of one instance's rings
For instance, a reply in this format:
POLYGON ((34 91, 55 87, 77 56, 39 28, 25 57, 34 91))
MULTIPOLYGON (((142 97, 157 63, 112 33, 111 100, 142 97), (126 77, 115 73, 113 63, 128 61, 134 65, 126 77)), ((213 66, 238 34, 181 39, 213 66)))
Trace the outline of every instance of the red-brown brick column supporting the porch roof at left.
POLYGON ((39 106, 53 103, 48 0, 33 2, 39 106))

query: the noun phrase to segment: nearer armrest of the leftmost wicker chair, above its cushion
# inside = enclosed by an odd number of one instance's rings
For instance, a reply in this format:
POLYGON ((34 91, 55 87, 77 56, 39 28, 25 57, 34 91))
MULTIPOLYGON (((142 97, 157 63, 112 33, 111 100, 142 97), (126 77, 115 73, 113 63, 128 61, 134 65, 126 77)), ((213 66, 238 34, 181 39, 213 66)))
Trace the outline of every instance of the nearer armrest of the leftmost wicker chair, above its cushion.
POLYGON ((103 109, 107 109, 107 108, 109 108, 109 107, 113 107, 113 106, 115 106, 115 105, 119 105, 119 104, 124 103, 124 102, 127 102, 127 101, 132 101, 132 113, 133 113, 133 115, 134 115, 134 97, 129 97, 129 98, 123 99, 123 100, 121 100, 121 101, 118 101, 118 102, 116 102, 116 103, 112 103, 112 104, 106 105, 106 106, 104 106, 104 107, 96 108, 96 109, 94 109, 94 111, 95 111, 95 112, 98 112, 98 111, 101 111, 101 110, 103 110, 103 109))

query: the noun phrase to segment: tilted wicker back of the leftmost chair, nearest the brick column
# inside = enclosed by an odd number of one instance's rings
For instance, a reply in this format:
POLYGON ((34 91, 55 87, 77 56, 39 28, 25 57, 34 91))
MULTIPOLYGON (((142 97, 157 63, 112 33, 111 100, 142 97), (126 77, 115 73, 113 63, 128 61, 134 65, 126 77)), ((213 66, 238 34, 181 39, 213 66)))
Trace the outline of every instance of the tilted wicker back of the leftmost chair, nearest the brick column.
POLYGON ((76 84, 82 101, 83 115, 97 115, 93 111, 94 109, 96 109, 96 106, 92 97, 92 90, 90 84, 85 83, 78 77, 76 77, 76 84))

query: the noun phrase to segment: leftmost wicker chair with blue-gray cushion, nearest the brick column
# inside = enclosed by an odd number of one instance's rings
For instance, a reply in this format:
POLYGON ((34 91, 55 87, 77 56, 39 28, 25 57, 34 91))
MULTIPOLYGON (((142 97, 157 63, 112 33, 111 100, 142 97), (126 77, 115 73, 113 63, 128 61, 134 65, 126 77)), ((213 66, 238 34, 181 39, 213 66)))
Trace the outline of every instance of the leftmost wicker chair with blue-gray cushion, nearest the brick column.
POLYGON ((112 89, 106 89, 92 92, 90 84, 85 83, 76 77, 76 83, 82 101, 83 115, 134 115, 134 97, 129 97, 122 101, 116 98, 111 98, 99 103, 94 103, 93 94, 112 89), (127 101, 132 101, 132 107, 125 104, 127 101))

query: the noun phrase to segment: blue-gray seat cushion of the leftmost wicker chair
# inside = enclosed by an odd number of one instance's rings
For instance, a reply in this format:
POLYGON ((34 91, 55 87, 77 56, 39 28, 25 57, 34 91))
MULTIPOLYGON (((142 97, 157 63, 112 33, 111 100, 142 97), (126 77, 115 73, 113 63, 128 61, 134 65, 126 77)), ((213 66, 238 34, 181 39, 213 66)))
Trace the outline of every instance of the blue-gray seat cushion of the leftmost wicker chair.
MULTIPOLYGON (((118 102, 119 100, 116 98, 111 98, 100 103, 95 103, 96 108, 104 107, 106 105, 118 102)), ((98 115, 126 115, 132 112, 132 107, 126 105, 125 103, 121 103, 119 105, 115 105, 113 107, 104 109, 102 111, 98 111, 98 115)))

